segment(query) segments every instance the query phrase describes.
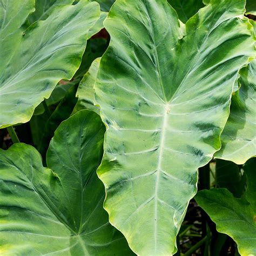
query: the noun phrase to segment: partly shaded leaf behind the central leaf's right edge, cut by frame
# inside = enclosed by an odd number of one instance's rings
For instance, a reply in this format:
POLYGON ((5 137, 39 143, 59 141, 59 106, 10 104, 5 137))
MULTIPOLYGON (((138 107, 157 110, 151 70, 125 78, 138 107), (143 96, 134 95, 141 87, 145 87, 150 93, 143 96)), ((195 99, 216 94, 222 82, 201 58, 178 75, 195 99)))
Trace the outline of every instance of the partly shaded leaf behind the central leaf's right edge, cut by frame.
POLYGON ((232 96, 221 149, 214 157, 244 164, 256 155, 256 59, 240 71, 240 84, 232 96))

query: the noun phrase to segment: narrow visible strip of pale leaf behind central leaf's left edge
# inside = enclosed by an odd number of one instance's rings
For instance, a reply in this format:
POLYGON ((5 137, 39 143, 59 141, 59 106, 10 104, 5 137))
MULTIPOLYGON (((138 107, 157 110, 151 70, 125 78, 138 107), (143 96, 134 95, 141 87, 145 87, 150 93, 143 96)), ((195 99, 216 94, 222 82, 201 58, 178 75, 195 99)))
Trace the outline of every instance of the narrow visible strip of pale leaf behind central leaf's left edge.
POLYGON ((97 78, 99 62, 100 58, 95 59, 92 62, 90 69, 88 72, 86 72, 83 79, 81 80, 76 94, 76 97, 78 97, 78 102, 75 106, 75 109, 73 110, 73 113, 76 113, 82 109, 89 109, 99 113, 99 107, 94 105, 95 90, 93 89, 97 78))

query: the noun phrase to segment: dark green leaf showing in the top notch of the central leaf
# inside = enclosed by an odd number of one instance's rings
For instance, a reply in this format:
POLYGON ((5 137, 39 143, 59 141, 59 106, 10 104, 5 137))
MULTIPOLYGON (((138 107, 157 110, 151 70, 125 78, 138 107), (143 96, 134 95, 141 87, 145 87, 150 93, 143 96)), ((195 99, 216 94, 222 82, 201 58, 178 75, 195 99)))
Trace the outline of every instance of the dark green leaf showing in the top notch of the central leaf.
POLYGON ((167 0, 177 11, 180 21, 186 21, 204 7, 202 0, 167 0))

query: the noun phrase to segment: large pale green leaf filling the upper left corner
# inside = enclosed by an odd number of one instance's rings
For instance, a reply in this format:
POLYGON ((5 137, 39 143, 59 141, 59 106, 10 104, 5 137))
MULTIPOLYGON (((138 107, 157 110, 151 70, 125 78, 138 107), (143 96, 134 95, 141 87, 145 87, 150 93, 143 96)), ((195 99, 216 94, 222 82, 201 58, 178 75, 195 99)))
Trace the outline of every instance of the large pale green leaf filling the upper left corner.
POLYGON ((19 27, 33 10, 33 1, 0 3, 0 127, 6 127, 28 122, 59 80, 72 78, 87 33, 99 18, 99 5, 82 0, 59 6, 22 32, 19 27))

